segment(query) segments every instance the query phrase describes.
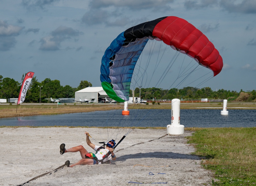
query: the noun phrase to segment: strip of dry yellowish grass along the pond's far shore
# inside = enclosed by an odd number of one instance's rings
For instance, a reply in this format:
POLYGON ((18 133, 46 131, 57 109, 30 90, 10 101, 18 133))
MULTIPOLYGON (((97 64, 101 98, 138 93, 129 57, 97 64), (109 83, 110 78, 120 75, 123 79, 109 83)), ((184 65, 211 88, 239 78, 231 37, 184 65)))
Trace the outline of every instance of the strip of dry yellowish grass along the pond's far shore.
MULTIPOLYGON (((221 109, 223 103, 182 103, 181 109, 221 109)), ((256 109, 255 103, 228 103, 228 108, 232 109, 256 109)), ((16 105, 0 104, 0 118, 4 117, 20 117, 20 116, 34 116, 34 115, 53 115, 53 114, 67 114, 79 112, 93 112, 105 110, 123 110, 123 104, 26 104, 18 105, 16 113, 16 105)), ((129 109, 171 109, 171 104, 134 104, 129 105, 129 109)))

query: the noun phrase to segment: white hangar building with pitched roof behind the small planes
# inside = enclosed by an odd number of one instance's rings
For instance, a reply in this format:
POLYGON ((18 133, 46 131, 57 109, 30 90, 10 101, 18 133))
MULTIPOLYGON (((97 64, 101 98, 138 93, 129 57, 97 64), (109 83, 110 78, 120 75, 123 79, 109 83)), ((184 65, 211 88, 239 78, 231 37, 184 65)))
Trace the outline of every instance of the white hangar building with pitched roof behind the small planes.
MULTIPOLYGON (((101 86, 99 87, 87 87, 85 89, 75 92, 75 100, 87 99, 89 101, 95 101, 93 103, 98 103, 104 98, 109 98, 108 94, 103 90, 101 86)), ((79 103, 79 102, 76 102, 79 103)))

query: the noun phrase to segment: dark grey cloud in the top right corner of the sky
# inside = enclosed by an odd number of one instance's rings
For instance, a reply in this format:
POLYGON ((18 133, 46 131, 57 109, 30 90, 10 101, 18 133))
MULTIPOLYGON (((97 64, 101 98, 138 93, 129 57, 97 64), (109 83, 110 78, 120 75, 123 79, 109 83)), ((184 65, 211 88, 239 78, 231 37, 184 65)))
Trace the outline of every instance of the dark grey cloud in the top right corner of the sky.
POLYGON ((256 14, 255 0, 242 0, 241 3, 237 3, 235 0, 221 0, 220 7, 230 13, 256 14))

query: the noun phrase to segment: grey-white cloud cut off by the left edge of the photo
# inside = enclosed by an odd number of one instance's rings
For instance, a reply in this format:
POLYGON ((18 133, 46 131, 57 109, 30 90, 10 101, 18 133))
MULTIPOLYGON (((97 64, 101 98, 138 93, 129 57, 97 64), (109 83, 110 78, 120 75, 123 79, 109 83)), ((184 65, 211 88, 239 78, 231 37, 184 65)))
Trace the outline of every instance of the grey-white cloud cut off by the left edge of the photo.
POLYGON ((17 42, 15 37, 20 34, 23 28, 0 20, 0 51, 8 51, 14 47, 17 42))

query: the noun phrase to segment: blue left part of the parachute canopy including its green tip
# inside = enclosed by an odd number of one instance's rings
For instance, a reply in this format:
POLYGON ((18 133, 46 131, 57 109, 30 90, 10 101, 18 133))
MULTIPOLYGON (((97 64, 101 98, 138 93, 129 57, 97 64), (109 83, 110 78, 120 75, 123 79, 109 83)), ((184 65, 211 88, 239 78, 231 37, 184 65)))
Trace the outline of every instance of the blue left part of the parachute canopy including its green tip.
POLYGON ((119 102, 129 100, 133 70, 148 37, 137 38, 127 45, 124 41, 124 32, 122 32, 106 49, 100 69, 103 89, 110 98, 119 102))

